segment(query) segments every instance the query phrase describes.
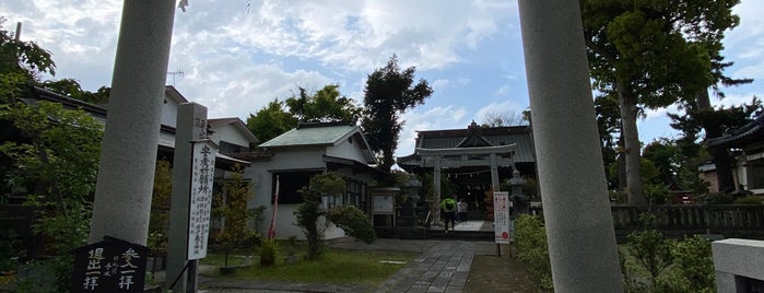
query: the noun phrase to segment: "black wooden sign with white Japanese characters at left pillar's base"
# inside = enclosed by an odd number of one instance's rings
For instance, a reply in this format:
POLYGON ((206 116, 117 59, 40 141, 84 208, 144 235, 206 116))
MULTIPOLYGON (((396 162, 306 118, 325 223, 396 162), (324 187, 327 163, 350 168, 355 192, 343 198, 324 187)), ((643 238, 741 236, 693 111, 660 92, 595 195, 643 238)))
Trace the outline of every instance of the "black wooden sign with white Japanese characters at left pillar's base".
POLYGON ((105 236, 72 253, 71 292, 143 292, 149 247, 105 236))

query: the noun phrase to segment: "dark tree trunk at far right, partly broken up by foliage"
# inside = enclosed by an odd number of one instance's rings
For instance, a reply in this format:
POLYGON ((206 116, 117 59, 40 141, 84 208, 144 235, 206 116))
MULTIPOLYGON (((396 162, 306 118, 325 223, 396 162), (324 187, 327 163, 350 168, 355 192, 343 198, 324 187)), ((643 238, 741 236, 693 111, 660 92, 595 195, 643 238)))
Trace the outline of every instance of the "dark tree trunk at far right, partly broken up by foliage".
MULTIPOLYGON (((710 106, 710 97, 708 96, 708 91, 703 90, 697 95, 695 95, 695 102, 697 105, 698 113, 713 113, 714 108, 710 106)), ((710 115, 702 115, 703 117, 710 117, 710 115)), ((707 121, 707 119, 701 119, 701 126, 703 130, 706 131, 706 141, 713 138, 721 137, 721 129, 718 124, 707 121)), ((732 176, 732 164, 730 164, 730 156, 727 149, 708 149, 708 154, 714 160, 716 165, 716 181, 719 187, 720 192, 732 192, 734 191, 734 177, 732 176)))

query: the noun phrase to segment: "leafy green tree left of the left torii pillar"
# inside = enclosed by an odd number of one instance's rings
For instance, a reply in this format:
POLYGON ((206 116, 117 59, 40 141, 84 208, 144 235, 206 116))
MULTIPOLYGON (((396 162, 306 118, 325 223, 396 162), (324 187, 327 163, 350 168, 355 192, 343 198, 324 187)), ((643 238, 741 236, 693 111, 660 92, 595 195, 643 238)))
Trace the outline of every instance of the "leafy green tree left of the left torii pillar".
POLYGON ((66 290, 70 251, 87 236, 103 127, 82 110, 44 101, 1 105, 0 120, 12 121, 28 139, 7 141, 0 152, 13 161, 13 185, 27 187, 25 204, 37 211, 33 232, 52 239, 46 248, 54 258, 47 263, 58 290, 66 290))

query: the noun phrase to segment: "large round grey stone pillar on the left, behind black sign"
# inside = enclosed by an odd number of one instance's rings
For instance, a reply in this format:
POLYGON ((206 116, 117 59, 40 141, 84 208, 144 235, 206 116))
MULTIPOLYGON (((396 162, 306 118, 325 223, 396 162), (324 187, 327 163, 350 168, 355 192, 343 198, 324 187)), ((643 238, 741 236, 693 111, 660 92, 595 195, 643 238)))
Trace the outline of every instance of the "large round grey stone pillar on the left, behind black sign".
POLYGON ((90 243, 146 243, 174 13, 175 0, 124 2, 90 243))

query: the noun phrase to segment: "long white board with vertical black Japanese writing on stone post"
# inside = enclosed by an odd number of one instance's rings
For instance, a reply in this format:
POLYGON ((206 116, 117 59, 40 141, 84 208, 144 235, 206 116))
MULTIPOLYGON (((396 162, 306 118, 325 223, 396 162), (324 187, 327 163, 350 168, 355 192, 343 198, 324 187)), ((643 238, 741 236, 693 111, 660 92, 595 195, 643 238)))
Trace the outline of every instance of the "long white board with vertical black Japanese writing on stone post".
POLYGON ((188 209, 187 259, 207 257, 207 239, 210 235, 212 184, 215 177, 214 144, 209 140, 192 142, 191 191, 188 209))

